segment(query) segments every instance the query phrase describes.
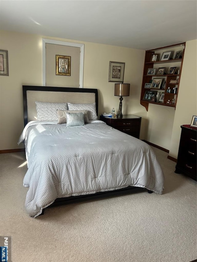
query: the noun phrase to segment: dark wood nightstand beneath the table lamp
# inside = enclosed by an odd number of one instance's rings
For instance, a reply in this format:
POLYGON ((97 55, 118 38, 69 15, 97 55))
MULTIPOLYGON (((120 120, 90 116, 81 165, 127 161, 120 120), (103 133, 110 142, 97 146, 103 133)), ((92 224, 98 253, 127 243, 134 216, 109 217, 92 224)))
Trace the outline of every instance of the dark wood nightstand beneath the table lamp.
POLYGON ((114 127, 128 135, 132 135, 139 139, 141 117, 137 115, 123 115, 123 118, 112 119, 111 117, 100 116, 100 120, 105 122, 108 126, 114 127))

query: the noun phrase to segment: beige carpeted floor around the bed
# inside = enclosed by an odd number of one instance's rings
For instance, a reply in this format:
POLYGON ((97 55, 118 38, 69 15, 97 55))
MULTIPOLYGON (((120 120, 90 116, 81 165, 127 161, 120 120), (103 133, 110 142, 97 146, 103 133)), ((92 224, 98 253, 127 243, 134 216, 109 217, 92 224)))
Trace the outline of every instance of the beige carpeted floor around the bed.
POLYGON ((13 262, 189 262, 196 250, 196 181, 154 148, 163 194, 143 190, 78 202, 30 218, 25 153, 0 154, 0 235, 11 236, 13 262))

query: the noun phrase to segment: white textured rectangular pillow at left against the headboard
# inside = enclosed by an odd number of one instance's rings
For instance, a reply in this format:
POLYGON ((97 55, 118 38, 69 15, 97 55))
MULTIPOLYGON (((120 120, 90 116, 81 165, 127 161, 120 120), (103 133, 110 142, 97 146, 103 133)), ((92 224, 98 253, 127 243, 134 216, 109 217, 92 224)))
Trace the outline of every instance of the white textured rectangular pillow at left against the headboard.
POLYGON ((58 121, 57 109, 68 110, 67 103, 50 103, 36 101, 38 121, 58 121))

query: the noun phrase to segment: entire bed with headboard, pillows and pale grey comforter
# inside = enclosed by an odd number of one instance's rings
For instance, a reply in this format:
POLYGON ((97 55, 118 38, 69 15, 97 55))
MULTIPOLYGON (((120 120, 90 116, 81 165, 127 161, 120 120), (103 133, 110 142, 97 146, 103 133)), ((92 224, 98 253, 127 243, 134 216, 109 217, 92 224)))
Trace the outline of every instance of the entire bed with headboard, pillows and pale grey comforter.
POLYGON ((164 176, 152 148, 98 116, 98 90, 23 86, 30 217, 65 201, 147 189, 162 194, 164 176), (65 122, 66 121, 66 122, 65 122))

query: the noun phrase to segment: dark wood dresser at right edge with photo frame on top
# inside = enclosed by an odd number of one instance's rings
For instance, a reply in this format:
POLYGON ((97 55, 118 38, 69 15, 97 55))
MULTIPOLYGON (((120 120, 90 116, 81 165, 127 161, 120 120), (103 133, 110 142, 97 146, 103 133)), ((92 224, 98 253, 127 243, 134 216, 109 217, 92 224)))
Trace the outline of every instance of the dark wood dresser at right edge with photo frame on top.
POLYGON ((182 125, 181 129, 175 173, 183 173, 196 180, 197 128, 182 125))

